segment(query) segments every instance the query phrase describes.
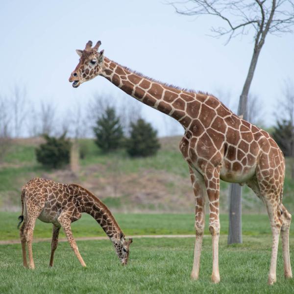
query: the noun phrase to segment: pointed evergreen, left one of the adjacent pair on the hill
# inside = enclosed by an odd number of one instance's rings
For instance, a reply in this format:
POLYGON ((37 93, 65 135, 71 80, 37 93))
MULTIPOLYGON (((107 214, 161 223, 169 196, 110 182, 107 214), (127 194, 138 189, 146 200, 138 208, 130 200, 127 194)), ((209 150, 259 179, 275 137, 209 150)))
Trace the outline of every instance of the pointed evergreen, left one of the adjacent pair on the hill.
POLYGON ((106 108, 105 113, 97 120, 93 130, 96 137, 95 143, 104 152, 122 147, 123 127, 113 107, 106 108))

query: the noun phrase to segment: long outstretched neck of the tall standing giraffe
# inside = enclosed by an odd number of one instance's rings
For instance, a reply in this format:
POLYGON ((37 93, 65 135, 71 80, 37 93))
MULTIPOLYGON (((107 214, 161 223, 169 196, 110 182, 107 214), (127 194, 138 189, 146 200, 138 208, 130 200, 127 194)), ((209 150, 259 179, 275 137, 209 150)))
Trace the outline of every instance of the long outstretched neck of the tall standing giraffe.
POLYGON ((187 103, 196 100, 196 93, 162 84, 104 58, 102 76, 128 95, 179 121, 187 127, 191 119, 186 115, 187 103))

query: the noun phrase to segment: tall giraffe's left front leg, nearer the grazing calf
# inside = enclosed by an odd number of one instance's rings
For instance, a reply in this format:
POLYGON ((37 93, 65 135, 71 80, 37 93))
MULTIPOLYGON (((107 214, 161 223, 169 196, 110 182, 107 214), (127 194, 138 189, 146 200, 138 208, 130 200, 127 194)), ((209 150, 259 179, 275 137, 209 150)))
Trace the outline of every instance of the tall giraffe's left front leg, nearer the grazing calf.
POLYGON ((194 249, 194 261, 191 278, 197 280, 199 277, 200 255, 204 233, 204 206, 205 206, 205 184, 203 176, 190 168, 190 176, 195 194, 195 230, 196 240, 194 249))

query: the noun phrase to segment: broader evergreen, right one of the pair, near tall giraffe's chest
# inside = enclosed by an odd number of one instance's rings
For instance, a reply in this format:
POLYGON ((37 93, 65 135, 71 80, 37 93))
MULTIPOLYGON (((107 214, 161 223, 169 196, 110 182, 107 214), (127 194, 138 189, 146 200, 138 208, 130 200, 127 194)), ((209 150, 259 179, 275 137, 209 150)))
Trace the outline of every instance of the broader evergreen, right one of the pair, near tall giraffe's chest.
POLYGON ((156 154, 159 148, 157 131, 150 123, 143 119, 131 123, 130 138, 126 141, 126 150, 130 156, 151 156, 156 154))

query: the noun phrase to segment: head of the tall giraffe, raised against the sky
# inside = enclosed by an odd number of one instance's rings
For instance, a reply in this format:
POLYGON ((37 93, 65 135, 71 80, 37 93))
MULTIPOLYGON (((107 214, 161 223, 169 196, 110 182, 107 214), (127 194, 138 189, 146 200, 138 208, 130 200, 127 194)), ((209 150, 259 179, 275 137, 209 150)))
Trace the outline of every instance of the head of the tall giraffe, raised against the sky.
POLYGON ((104 50, 98 51, 101 42, 92 48, 92 41, 88 41, 84 50, 76 50, 80 57, 79 63, 71 73, 69 81, 73 82, 73 88, 77 88, 81 83, 88 81, 101 73, 104 50))

